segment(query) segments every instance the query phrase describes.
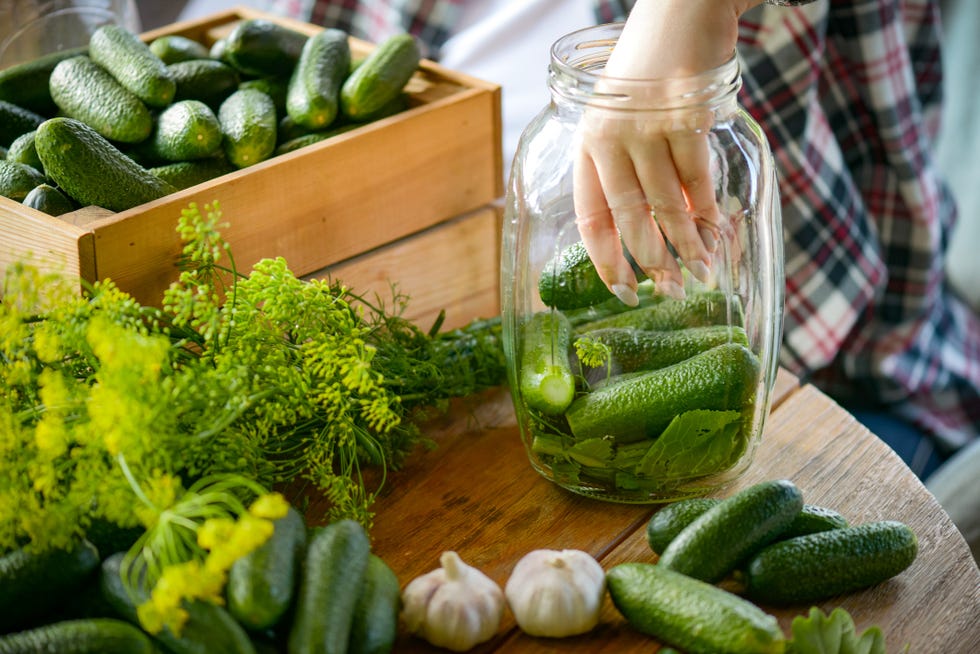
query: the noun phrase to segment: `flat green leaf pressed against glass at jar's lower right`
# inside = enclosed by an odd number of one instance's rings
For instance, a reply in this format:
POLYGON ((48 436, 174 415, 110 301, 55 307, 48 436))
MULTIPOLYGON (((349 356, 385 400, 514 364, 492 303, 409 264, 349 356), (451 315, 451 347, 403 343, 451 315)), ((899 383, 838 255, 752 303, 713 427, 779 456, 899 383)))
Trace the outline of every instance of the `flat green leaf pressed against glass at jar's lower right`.
POLYGON ((681 479, 721 472, 741 455, 739 411, 687 411, 674 419, 636 466, 638 475, 681 479))

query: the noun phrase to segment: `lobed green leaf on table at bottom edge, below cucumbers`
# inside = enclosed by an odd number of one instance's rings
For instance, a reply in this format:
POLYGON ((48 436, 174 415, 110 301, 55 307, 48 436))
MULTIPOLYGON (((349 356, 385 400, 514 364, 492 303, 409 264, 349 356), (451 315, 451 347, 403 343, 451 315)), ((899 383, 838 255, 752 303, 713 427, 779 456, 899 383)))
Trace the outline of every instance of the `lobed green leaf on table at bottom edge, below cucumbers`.
POLYGON ((829 616, 811 607, 809 616, 793 618, 791 629, 787 654, 885 654, 881 629, 869 627, 859 636, 851 615, 841 607, 829 616))

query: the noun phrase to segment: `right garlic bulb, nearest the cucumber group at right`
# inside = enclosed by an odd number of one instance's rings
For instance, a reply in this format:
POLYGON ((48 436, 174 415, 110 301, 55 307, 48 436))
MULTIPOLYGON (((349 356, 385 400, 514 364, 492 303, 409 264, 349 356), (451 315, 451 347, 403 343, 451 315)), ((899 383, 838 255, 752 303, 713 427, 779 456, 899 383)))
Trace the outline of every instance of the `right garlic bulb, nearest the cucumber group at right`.
POLYGON ((514 566, 504 593, 524 633, 574 636, 598 624, 606 573, 581 550, 535 550, 514 566))

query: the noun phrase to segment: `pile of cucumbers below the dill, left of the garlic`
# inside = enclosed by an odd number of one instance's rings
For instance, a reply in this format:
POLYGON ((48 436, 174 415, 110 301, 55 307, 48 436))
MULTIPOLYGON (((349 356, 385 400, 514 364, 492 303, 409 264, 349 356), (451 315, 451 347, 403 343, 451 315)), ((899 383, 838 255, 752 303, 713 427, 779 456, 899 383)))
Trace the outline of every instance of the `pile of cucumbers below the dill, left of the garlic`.
POLYGON ((82 541, 70 551, 0 557, 0 653, 381 654, 394 647, 398 579, 352 520, 308 531, 290 509, 264 545, 235 562, 224 606, 184 603, 179 634, 141 628, 137 606, 147 593, 124 586, 123 556, 103 558, 82 541))

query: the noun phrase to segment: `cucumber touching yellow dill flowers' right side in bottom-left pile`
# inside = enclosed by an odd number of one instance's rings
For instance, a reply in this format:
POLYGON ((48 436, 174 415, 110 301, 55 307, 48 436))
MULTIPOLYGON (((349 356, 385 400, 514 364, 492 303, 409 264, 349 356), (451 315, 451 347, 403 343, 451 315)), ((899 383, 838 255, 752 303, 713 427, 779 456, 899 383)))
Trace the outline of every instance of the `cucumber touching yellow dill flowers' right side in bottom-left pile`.
POLYGON ((275 626, 293 603, 305 551, 306 522, 290 507, 272 537, 231 566, 228 611, 253 631, 275 626))

